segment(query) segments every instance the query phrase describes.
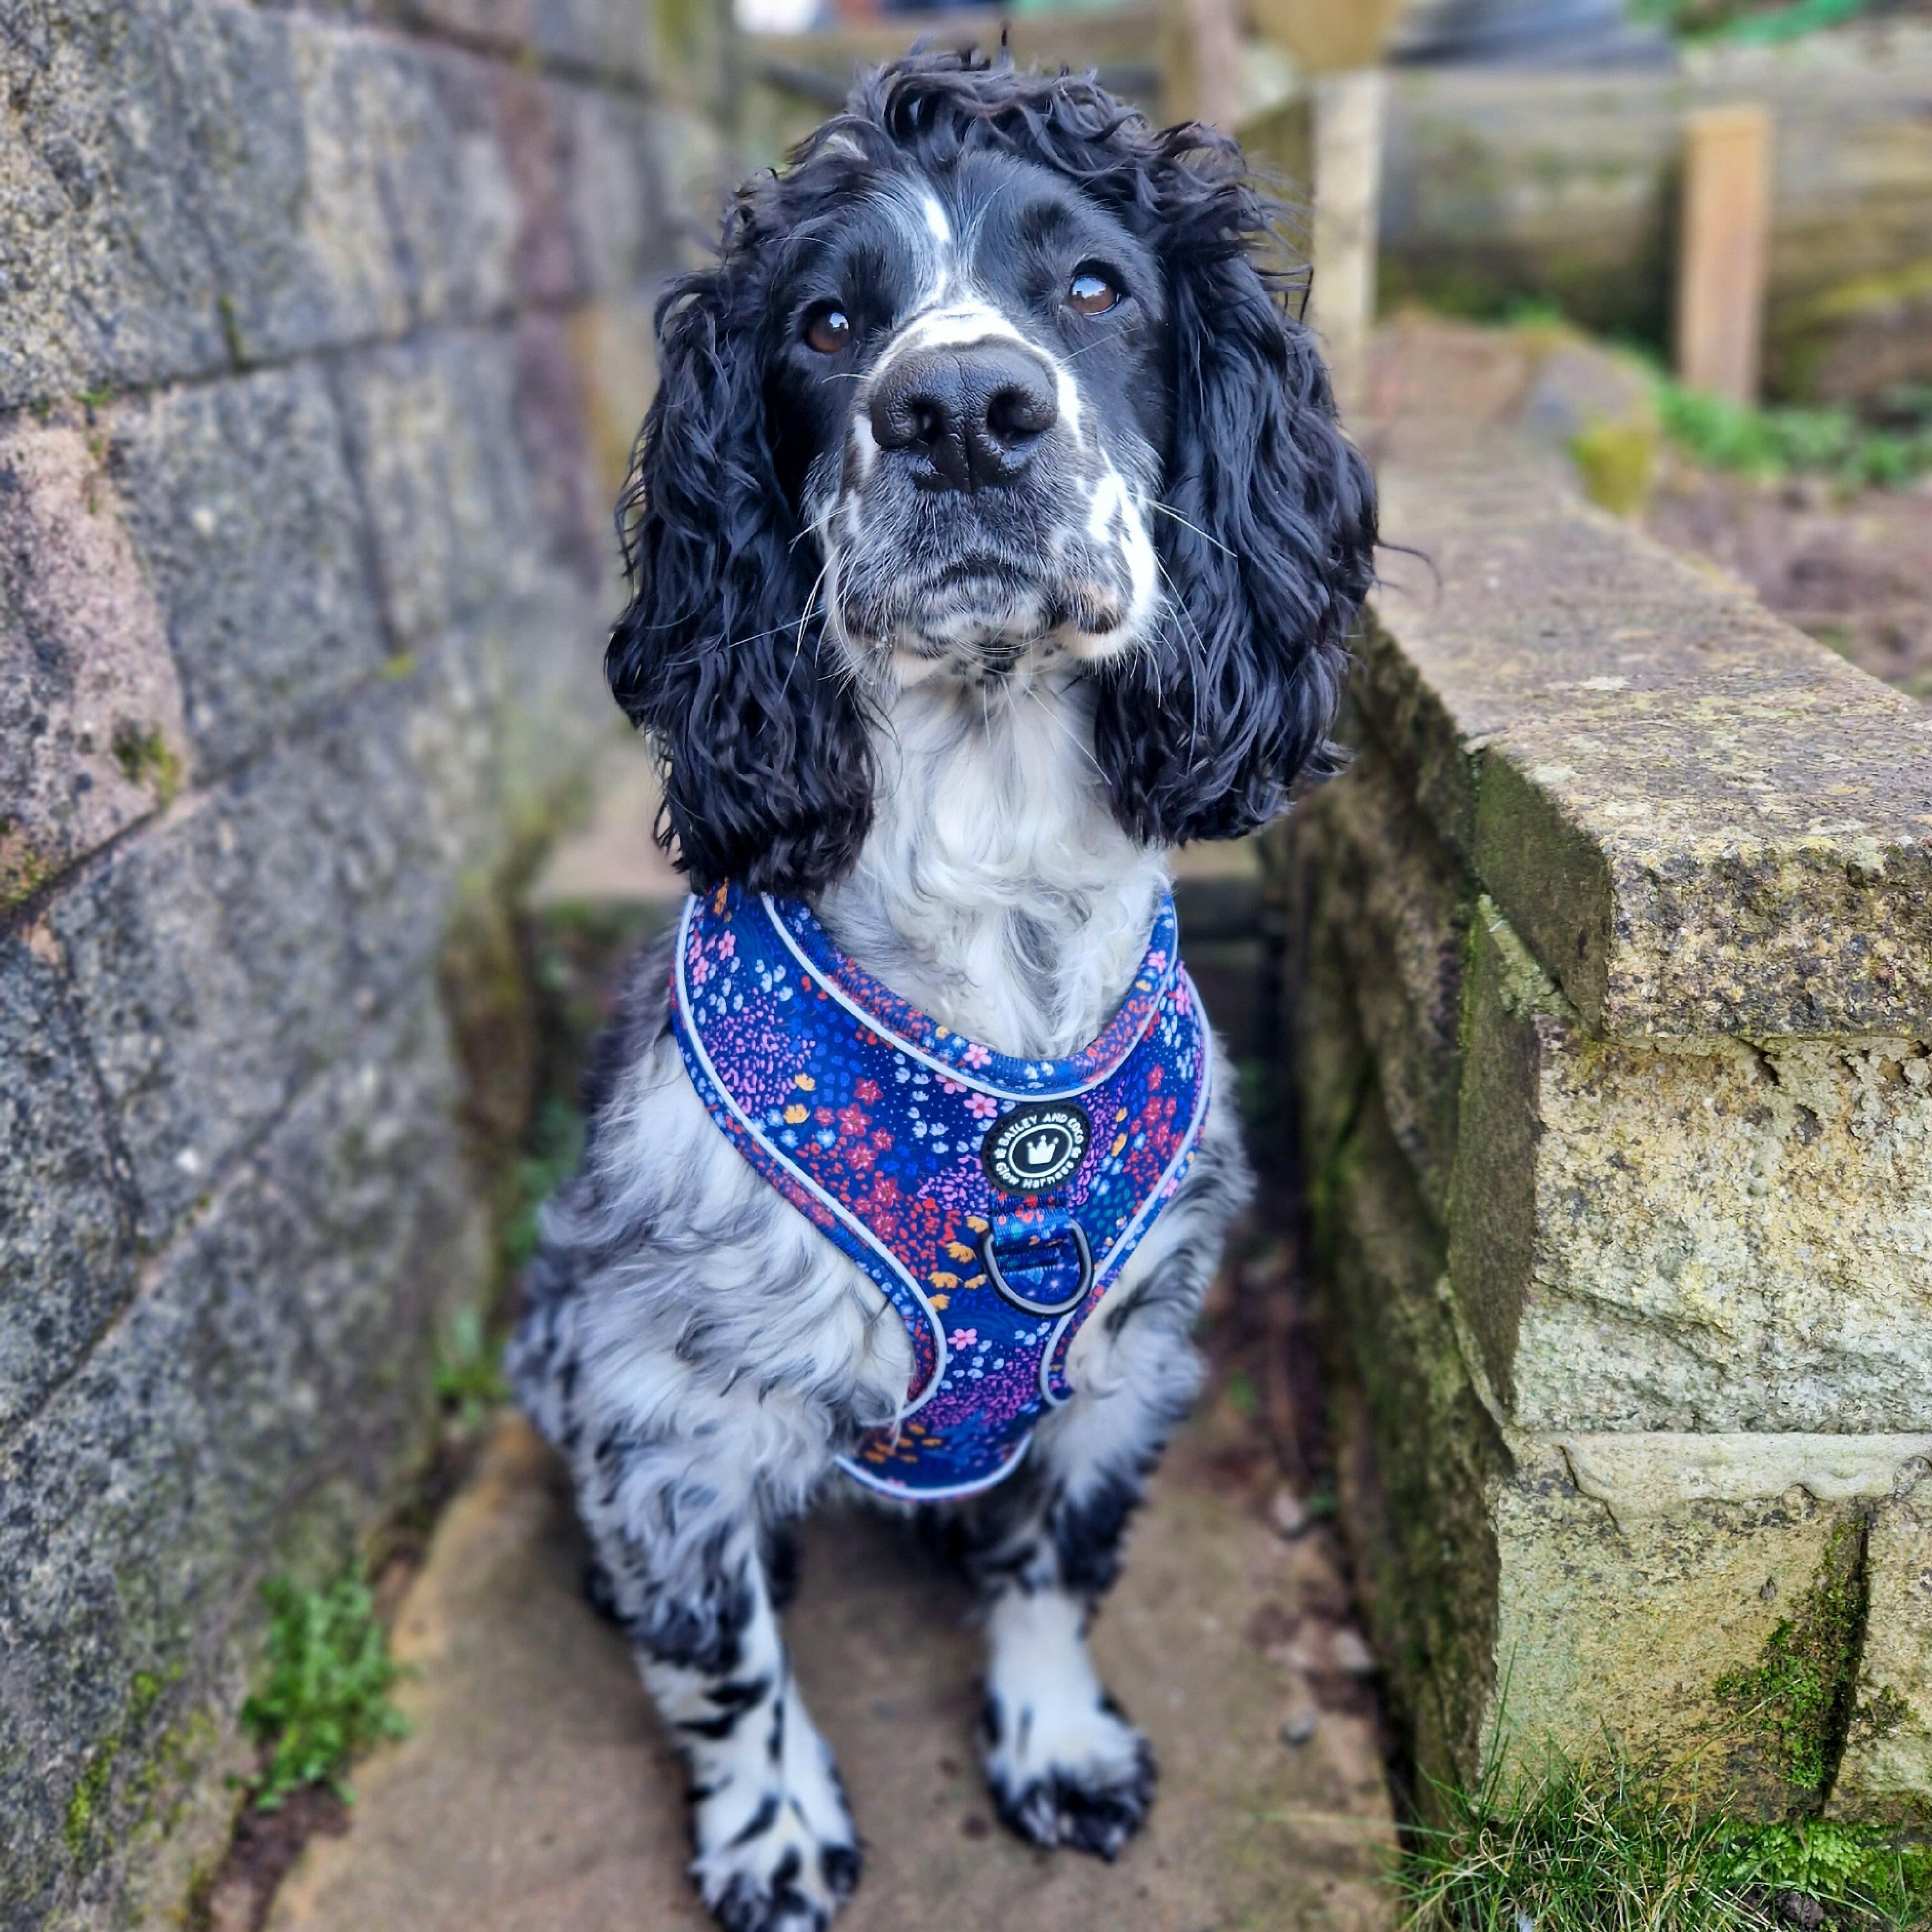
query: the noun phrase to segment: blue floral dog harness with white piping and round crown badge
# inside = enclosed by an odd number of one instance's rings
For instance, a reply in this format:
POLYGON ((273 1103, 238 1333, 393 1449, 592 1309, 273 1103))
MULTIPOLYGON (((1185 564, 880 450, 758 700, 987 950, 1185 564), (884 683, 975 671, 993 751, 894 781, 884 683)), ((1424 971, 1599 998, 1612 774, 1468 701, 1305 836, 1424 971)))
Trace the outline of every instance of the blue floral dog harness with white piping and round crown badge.
POLYGON ((947 1032, 806 906, 736 885, 688 900, 670 1012, 711 1119, 912 1337, 898 1424, 840 1466, 912 1501, 991 1488, 1072 1395, 1074 1335, 1194 1159, 1208 1026, 1173 900, 1124 1005, 1068 1061, 947 1032))

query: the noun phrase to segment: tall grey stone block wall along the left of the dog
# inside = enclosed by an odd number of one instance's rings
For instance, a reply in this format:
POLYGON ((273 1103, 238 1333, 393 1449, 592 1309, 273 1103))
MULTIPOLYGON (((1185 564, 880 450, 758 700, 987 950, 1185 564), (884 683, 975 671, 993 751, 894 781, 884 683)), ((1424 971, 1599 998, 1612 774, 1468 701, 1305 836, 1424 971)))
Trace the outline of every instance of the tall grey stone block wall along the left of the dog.
POLYGON ((489 1293, 452 1014, 609 728, 719 17, 0 6, 8 1932, 176 1922, 253 1586, 348 1559, 489 1293))

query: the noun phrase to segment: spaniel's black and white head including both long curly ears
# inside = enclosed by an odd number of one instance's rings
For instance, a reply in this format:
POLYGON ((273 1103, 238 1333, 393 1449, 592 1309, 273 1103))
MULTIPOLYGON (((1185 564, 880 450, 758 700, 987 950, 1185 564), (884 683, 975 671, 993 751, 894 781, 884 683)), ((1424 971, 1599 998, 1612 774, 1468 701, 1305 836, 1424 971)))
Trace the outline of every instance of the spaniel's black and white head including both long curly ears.
POLYGON ((611 688, 694 883, 810 895, 895 688, 1094 684, 1119 821, 1252 831, 1327 753, 1368 473, 1223 135, 970 54, 869 75, 659 309, 611 688))

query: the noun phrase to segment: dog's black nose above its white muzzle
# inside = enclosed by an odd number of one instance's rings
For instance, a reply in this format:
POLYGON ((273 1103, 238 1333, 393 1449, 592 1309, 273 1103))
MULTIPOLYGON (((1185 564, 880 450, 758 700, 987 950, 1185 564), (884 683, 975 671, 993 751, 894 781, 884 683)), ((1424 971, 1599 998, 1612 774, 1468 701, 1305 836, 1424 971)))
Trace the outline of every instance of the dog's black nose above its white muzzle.
POLYGON ((1016 342, 912 350, 879 379, 871 435, 931 464, 945 489, 1010 483, 1059 415, 1053 371, 1016 342))

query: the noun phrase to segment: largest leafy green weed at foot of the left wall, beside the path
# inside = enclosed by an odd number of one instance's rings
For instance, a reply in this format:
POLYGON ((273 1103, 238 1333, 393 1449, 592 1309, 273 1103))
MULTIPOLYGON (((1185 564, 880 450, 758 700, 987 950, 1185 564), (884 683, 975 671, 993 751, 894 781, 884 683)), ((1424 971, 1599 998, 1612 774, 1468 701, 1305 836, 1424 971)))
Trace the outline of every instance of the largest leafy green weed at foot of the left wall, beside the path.
POLYGON ((267 1747, 253 1803, 276 1810, 305 1785, 328 1785, 346 1803, 350 1760, 408 1721, 388 1700, 402 1665, 388 1654, 375 1598, 354 1577, 327 1590, 299 1590, 286 1577, 261 1586, 269 1607, 269 1679, 243 1706, 242 1723, 267 1747))

